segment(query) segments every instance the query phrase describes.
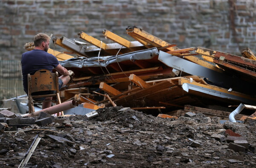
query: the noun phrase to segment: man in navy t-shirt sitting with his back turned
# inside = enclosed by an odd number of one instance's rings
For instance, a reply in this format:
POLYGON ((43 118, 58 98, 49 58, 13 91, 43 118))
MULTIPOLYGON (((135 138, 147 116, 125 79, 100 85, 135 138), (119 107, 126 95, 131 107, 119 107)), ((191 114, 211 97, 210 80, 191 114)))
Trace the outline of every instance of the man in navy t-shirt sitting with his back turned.
MULTIPOLYGON (((59 90, 70 81, 70 76, 74 73, 72 70, 67 70, 59 64, 58 59, 50 53, 47 53, 49 48, 50 37, 47 34, 39 33, 34 37, 34 50, 22 54, 21 68, 23 75, 24 91, 28 95, 28 74, 34 75, 37 70, 47 69, 52 72, 55 68, 62 76, 58 78, 59 90)), ((34 95, 51 94, 49 91, 35 92, 34 95)), ((43 98, 47 102, 43 102, 42 109, 46 109, 52 105, 52 97, 43 98)))

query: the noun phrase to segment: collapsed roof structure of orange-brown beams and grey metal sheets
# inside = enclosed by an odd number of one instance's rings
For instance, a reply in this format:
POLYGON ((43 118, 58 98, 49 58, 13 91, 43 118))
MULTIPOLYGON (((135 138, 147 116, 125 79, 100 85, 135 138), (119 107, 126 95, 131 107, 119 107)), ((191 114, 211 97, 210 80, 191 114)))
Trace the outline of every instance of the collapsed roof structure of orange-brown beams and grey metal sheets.
MULTIPOLYGON (((63 101, 75 99, 91 109, 113 103, 161 109, 172 115, 186 111, 188 104, 208 109, 218 105, 223 112, 233 111, 225 108, 229 105, 256 105, 256 56, 250 49, 242 50, 241 57, 201 47, 180 49, 135 26, 128 26, 126 33, 136 41, 108 30, 102 34, 114 43, 106 44, 84 32, 78 35, 85 42, 53 39, 75 55, 48 50, 63 67, 75 72, 73 83, 62 88, 63 101)), ((254 107, 249 109, 244 116, 253 115, 254 107)), ((220 113, 212 110, 211 115, 220 113)))

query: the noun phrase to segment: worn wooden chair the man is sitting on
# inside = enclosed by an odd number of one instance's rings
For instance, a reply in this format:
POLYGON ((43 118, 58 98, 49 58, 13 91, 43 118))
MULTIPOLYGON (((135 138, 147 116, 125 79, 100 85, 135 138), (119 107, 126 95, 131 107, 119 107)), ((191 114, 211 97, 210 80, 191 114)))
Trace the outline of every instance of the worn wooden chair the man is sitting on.
MULTIPOLYGON (((58 89, 58 72, 52 73, 49 70, 38 70, 34 75, 28 74, 28 100, 29 100, 29 113, 35 112, 34 103, 41 103, 46 101, 37 101, 36 98, 54 97, 56 96, 58 104, 61 104, 58 89), (54 90, 54 94, 48 95, 31 95, 33 92, 50 91, 54 90)), ((55 100, 51 100, 55 101, 55 100)), ((63 112, 61 112, 63 115, 63 112)))

